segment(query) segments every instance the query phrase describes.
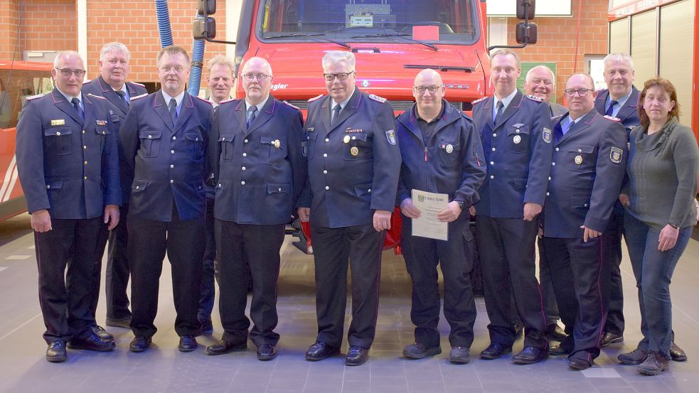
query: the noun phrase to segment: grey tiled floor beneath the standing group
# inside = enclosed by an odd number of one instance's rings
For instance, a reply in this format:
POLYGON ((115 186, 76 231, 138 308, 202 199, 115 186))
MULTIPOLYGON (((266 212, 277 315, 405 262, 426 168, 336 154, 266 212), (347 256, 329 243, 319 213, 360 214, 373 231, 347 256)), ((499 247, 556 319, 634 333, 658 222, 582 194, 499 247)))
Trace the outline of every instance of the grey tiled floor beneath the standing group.
MULTIPOLYGON (((672 362, 658 377, 641 377, 635 368, 617 365, 619 352, 635 348, 640 338, 639 311, 631 267, 622 264, 627 303, 623 345, 605 348, 596 366, 569 370, 564 358, 550 357, 538 365, 518 366, 509 355, 499 360, 474 360, 451 365, 446 360, 448 325, 442 321, 444 353, 426 360, 404 360, 402 347, 412 343, 410 280, 402 258, 384 253, 378 332, 370 361, 346 367, 343 358, 306 362, 314 341, 313 263, 310 256, 287 243, 282 249, 279 278, 279 357, 259 362, 255 351, 207 356, 203 345, 222 333, 214 312, 214 335, 199 340, 191 353, 176 349, 172 324, 169 269, 161 279, 159 332, 151 350, 128 350, 132 333, 113 328, 117 350, 109 353, 69 350, 68 362, 44 360, 44 326, 37 301, 36 262, 28 216, 0 223, 0 392, 697 392, 699 387, 699 242, 693 240, 678 264, 672 286, 673 328, 688 362, 672 362)), ((488 345, 488 317, 482 298, 476 299, 478 319, 475 355, 488 345)), ((103 321, 103 302, 97 310, 103 321)), ((519 340, 515 350, 521 348, 519 340)), ((252 347, 252 345, 251 345, 252 347)), ((346 348, 343 348, 346 350, 346 348)))

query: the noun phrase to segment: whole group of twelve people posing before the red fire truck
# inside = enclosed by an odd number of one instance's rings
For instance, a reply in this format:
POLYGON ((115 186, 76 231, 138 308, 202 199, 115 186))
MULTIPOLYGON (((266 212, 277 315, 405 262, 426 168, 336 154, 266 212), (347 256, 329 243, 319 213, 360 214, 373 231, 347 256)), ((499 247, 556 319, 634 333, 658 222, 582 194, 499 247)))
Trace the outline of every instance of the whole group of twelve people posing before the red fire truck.
POLYGON ((250 338, 259 360, 273 359, 279 251, 284 225, 297 214, 310 221, 314 249, 318 333, 306 360, 340 353, 349 267, 346 364, 362 365, 375 336, 394 207, 412 281, 415 343, 405 357, 442 352, 439 264, 449 361, 471 360, 477 247, 490 321, 480 357, 511 352, 523 330, 513 362, 567 355, 572 369, 591 367, 601 347, 623 340, 623 235, 644 339, 619 360, 655 375, 671 358, 686 359, 671 331, 669 284, 699 215, 699 151, 678 123, 672 84, 654 78, 639 92, 628 55, 605 58, 609 90, 595 91, 587 74, 568 78, 565 108, 552 102, 551 70, 530 70, 523 93, 518 55, 499 50, 491 55, 495 94, 474 102, 473 118, 444 99, 439 72, 421 70, 415 104, 396 118, 386 99, 356 87, 354 55, 329 51, 328 94, 309 100, 305 122, 270 94, 273 73, 263 58, 242 65, 245 98, 231 99, 235 65, 215 56, 210 100, 185 91, 186 50, 161 50, 161 89, 150 95, 127 81, 129 58, 121 43, 105 45, 100 77, 83 85, 84 60, 59 53, 55 90, 29 98, 18 124, 48 361, 65 361, 66 346, 114 350, 95 319, 107 239, 107 325, 132 329, 130 350, 147 350, 156 333, 167 254, 179 350, 196 350, 196 336, 213 330, 216 276, 224 333, 206 353, 245 350, 250 338), (449 196, 437 214, 448 222, 446 241, 412 235, 412 219, 422 214, 413 190, 449 196))

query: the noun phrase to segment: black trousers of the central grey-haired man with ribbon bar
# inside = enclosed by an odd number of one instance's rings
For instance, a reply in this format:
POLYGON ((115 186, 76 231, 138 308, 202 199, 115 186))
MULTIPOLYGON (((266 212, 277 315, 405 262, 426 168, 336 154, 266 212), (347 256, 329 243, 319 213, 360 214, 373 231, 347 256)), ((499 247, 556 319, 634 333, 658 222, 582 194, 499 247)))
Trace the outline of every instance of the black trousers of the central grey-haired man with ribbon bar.
POLYGON ((385 231, 373 224, 343 228, 311 226, 316 267, 316 340, 339 348, 347 304, 347 268, 352 274, 349 345, 370 348, 376 333, 381 252, 385 231))

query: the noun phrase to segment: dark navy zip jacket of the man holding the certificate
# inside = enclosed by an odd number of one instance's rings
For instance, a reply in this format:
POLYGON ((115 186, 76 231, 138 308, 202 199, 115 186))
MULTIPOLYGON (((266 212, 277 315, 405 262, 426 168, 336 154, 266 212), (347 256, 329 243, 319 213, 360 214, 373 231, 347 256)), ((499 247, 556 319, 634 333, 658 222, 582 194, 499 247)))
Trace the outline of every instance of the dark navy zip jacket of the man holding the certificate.
POLYGON ((442 99, 444 114, 425 146, 415 107, 397 118, 400 143, 400 179, 395 204, 411 198, 412 189, 449 194, 466 206, 479 201, 478 189, 486 177, 481 139, 471 118, 442 99))

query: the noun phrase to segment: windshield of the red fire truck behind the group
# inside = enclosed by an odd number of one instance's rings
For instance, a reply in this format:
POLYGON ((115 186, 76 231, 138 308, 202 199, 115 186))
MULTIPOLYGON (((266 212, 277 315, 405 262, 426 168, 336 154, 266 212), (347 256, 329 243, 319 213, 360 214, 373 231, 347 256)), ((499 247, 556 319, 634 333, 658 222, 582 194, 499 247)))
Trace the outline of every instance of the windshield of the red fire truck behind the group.
POLYGON ((260 0, 257 36, 338 45, 411 40, 472 45, 479 38, 474 1, 260 0))

